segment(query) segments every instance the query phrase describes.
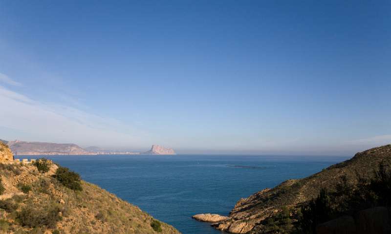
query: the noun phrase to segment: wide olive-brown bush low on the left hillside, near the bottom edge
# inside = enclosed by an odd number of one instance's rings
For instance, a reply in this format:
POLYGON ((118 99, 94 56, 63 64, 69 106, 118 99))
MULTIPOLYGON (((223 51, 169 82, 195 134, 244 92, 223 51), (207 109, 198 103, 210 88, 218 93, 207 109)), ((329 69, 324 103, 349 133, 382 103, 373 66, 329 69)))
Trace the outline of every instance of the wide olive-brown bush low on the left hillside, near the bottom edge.
POLYGON ((54 228, 58 221, 61 220, 61 208, 58 204, 50 202, 44 206, 27 203, 18 213, 18 220, 22 226, 30 228, 48 227, 54 228))

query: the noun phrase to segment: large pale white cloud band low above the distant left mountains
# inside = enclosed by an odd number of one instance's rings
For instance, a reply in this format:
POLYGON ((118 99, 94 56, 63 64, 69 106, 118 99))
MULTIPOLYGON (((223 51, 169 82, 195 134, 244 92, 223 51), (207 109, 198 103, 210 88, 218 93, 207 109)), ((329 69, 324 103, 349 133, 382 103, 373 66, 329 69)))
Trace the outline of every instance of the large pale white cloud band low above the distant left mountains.
MULTIPOLYGON (((148 146, 151 139, 140 129, 60 104, 44 104, 0 86, 0 127, 15 129, 31 141, 77 143, 120 148, 148 146)), ((2 136, 4 137, 4 136, 2 136)), ((13 139, 9 139, 13 140, 13 139)))

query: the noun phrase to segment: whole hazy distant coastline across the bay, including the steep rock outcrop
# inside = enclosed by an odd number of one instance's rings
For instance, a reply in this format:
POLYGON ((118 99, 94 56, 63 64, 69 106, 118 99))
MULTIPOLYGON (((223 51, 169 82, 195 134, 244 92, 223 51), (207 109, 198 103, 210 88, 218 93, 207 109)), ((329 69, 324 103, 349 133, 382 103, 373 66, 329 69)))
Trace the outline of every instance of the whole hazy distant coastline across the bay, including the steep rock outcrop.
POLYGON ((27 142, 27 141, 5 141, 14 155, 97 155, 97 154, 175 154, 174 149, 164 148, 158 145, 152 145, 152 148, 146 152, 132 152, 123 150, 101 149, 91 146, 85 149, 76 144, 59 144, 47 142, 27 142))

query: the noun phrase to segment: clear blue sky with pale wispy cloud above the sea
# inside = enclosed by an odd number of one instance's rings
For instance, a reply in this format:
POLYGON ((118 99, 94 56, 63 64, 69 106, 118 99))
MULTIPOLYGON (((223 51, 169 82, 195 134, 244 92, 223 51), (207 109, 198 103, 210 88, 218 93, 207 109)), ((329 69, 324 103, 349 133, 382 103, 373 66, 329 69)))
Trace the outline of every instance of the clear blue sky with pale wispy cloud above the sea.
POLYGON ((391 143, 391 1, 0 0, 0 138, 178 153, 391 143))

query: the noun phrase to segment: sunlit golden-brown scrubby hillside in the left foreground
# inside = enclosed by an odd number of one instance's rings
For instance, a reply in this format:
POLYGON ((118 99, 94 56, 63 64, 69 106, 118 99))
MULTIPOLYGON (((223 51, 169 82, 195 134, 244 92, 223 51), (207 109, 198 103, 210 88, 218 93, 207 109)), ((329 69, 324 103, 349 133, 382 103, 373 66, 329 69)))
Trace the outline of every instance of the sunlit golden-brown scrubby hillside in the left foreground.
POLYGON ((0 233, 179 234, 65 168, 37 165, 0 163, 0 233))

